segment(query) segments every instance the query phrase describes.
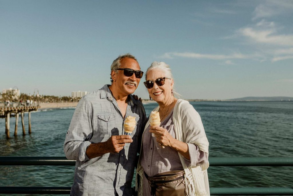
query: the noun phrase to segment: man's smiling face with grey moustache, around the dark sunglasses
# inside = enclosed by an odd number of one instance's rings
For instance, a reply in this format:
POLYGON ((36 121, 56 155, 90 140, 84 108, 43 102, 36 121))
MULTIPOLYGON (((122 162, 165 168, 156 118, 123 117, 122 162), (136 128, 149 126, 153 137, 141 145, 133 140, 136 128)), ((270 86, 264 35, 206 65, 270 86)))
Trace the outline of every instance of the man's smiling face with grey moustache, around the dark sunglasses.
MULTIPOLYGON (((120 60, 119 68, 129 68, 134 71, 140 70, 139 64, 132 58, 122 58, 120 60)), ((118 91, 123 95, 129 95, 134 93, 139 84, 140 78, 136 78, 133 73, 132 76, 125 76, 124 70, 118 70, 118 73, 115 73, 115 85, 118 87, 118 91)))

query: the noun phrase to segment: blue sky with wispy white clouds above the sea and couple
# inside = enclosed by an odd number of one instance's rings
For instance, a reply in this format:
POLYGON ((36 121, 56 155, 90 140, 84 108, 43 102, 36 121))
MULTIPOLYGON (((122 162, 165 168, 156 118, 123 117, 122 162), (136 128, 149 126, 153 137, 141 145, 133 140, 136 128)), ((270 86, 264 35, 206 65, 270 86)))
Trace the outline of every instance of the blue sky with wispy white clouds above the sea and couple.
POLYGON ((96 91, 123 53, 185 99, 293 96, 293 1, 0 0, 0 90, 96 91))

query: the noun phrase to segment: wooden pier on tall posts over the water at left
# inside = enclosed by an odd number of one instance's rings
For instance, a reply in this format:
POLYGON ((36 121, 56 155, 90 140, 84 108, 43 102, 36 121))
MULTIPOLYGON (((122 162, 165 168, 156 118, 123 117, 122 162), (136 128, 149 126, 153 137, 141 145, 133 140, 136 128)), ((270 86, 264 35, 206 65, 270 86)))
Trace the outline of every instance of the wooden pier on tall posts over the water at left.
POLYGON ((10 138, 10 117, 11 114, 15 114, 15 129, 14 136, 17 135, 17 127, 18 127, 18 117, 19 113, 21 113, 21 124, 22 124, 22 134, 25 135, 25 127, 24 127, 24 113, 28 112, 28 133, 32 133, 31 123, 30 123, 30 112, 37 111, 40 106, 16 106, 16 107, 0 107, 0 118, 5 118, 5 134, 6 138, 10 138))

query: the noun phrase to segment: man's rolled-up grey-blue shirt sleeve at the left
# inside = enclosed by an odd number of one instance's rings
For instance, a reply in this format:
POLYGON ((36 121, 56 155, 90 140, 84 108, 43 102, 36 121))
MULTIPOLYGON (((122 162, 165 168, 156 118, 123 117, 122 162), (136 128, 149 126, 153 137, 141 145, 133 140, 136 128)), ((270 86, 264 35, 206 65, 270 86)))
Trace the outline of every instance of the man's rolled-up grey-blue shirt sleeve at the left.
POLYGON ((88 141, 93 134, 92 112, 85 98, 79 100, 71 119, 64 142, 64 153, 67 159, 86 161, 86 149, 91 144, 88 141))

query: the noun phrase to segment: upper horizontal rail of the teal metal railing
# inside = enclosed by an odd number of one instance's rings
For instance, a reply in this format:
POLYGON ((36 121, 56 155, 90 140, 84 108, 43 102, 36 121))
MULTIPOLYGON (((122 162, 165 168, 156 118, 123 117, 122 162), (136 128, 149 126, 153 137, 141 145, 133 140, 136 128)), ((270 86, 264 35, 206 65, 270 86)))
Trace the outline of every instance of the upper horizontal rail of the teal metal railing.
MULTIPOLYGON (((66 157, 0 157, 0 165, 75 165, 66 157)), ((293 157, 209 157, 210 166, 293 166, 293 157)))

